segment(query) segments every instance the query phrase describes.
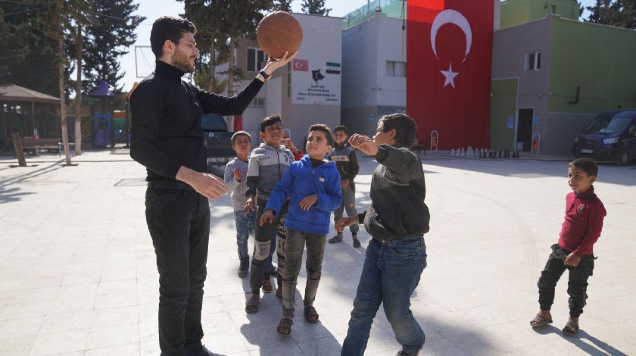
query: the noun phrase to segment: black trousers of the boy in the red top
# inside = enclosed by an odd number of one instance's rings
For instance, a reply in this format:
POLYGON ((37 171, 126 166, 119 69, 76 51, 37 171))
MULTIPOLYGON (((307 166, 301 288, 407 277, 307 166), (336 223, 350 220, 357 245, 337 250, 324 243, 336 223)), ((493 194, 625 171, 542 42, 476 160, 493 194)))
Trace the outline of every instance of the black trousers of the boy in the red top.
POLYGON ((550 310, 555 299, 556 282, 565 270, 570 271, 567 282, 567 294, 570 295, 570 317, 578 318, 583 313, 583 307, 588 299, 588 278, 594 270, 594 255, 584 255, 578 266, 565 266, 565 257, 570 251, 563 250, 558 244, 552 245, 552 253, 548 257, 546 267, 541 271, 541 277, 537 281, 539 287, 539 304, 541 310, 550 310))

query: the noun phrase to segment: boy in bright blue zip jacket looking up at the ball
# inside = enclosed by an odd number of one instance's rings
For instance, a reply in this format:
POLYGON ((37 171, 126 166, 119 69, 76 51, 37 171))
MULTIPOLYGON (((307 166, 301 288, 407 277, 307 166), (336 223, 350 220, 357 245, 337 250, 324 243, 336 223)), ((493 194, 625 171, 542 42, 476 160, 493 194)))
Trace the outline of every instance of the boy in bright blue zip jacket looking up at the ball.
POLYGON ((285 255, 282 275, 282 319, 277 331, 287 335, 291 332, 294 318, 296 280, 303 261, 303 249, 307 245, 307 286, 305 287, 305 319, 314 323, 318 313, 314 299, 322 271, 324 245, 329 232, 331 212, 342 204, 340 173, 335 162, 324 160, 333 147, 333 137, 327 125, 317 124, 309 128, 307 155, 293 162, 282 180, 274 187, 265 206, 259 224, 271 222, 280 211, 287 196, 285 227, 287 239, 279 249, 285 255))

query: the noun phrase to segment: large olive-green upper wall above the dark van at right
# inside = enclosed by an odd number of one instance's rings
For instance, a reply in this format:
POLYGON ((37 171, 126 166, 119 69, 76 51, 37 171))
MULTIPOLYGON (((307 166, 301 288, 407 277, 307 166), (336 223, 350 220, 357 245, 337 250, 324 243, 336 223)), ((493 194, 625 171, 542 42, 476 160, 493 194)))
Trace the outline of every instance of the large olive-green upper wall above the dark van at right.
POLYGON ((636 31, 555 17, 550 51, 548 111, 636 108, 636 31))

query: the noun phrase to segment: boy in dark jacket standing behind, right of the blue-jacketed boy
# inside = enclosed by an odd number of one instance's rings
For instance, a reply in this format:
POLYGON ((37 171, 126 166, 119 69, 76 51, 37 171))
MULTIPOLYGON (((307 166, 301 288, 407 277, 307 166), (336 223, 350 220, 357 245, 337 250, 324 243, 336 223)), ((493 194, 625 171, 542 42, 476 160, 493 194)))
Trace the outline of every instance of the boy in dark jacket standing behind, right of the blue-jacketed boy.
MULTIPOLYGON (((347 211, 347 217, 357 217, 356 211, 356 178, 359 171, 356 151, 347 144, 349 132, 347 126, 338 125, 333 129, 333 142, 335 146, 329 152, 329 160, 336 162, 336 168, 340 173, 340 188, 342 188, 342 204, 333 212, 333 222, 336 223, 342 218, 343 211, 347 211)), ((359 224, 349 227, 354 247, 360 247, 360 240, 357 239, 359 224)), ((342 231, 338 231, 336 236, 329 239, 329 243, 342 241, 342 231)))

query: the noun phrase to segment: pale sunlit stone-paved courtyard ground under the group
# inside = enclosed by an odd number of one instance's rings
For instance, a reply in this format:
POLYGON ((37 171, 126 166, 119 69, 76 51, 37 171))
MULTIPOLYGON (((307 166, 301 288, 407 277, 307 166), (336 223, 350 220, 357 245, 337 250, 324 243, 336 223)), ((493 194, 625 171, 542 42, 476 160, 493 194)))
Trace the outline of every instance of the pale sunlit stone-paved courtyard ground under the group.
MULTIPOLYGON (((567 162, 421 155, 431 232, 428 267, 412 299, 424 355, 636 355, 636 166, 600 166, 595 188, 607 208, 581 332, 562 336, 567 280, 554 324, 533 330, 536 281, 563 219, 567 162)), ((63 158, 63 157, 62 157, 63 158)), ((0 157, 0 355, 158 355, 158 273, 144 215, 145 171, 125 150, 86 152, 78 166, 57 155, 11 167, 0 157)), ((361 158, 357 208, 370 203, 376 162, 361 158)), ((364 251, 327 245, 315 307, 290 336, 275 326, 268 294, 246 315, 230 197, 211 202, 204 343, 218 355, 340 355, 364 251)), ((253 239, 250 238, 250 245, 253 239)), ((306 274, 298 278, 298 306, 306 274)), ((399 345, 382 310, 366 355, 399 345)))

